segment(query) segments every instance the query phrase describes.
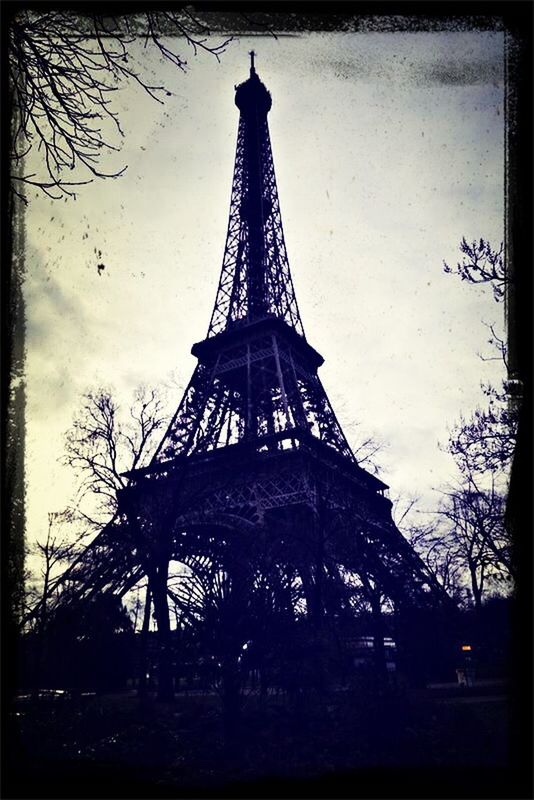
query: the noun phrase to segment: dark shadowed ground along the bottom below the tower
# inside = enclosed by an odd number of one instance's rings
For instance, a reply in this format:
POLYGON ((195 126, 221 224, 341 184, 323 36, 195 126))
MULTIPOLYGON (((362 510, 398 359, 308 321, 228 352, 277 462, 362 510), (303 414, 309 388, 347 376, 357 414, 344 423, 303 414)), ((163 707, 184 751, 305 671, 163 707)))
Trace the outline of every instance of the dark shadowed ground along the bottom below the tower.
POLYGON ((20 696, 12 722, 5 797, 445 797, 454 796, 451 781, 476 784, 479 774, 493 776, 497 789, 509 767, 508 703, 498 685, 297 702, 250 696, 231 732, 218 697, 200 693, 173 704, 133 691, 20 696), (384 781, 395 794, 379 792, 384 781))

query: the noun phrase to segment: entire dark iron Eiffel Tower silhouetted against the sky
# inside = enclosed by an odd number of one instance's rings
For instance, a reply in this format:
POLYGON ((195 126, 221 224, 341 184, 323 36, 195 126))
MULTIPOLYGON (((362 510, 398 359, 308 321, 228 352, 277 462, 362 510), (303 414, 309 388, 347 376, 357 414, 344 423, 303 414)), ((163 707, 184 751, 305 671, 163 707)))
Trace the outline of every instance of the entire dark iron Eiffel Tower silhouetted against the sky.
POLYGON ((121 594, 148 576, 163 695, 172 693, 168 601, 198 618, 195 576, 204 588, 219 582, 234 663, 245 636, 259 635, 257 615, 255 632, 238 629, 260 587, 271 598, 270 642, 282 619, 300 615, 324 631, 350 617, 355 587, 377 618, 384 598, 401 615, 448 602, 395 527, 388 487, 357 463, 318 376, 323 357, 304 333, 284 241, 271 95, 250 56, 235 90, 228 231, 207 336, 191 351, 197 366, 150 464, 128 473, 116 520, 82 559, 92 591, 121 594), (177 589, 173 561, 188 576, 177 589))

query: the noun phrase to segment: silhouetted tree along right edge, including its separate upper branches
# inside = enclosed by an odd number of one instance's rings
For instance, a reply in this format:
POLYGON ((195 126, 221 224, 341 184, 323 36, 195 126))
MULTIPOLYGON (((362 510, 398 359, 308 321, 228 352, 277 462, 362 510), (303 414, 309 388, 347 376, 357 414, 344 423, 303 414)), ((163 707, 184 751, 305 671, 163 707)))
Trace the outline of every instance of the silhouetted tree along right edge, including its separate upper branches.
MULTIPOLYGON (((504 246, 498 249, 480 239, 460 244, 462 260, 452 269, 444 263, 445 272, 459 275, 472 284, 488 284, 500 303, 507 296, 511 281, 506 270, 504 246)), ((508 371, 506 342, 493 325, 488 343, 494 355, 483 360, 500 360, 508 371)), ((447 450, 460 473, 460 488, 446 492, 440 513, 449 523, 450 554, 463 562, 470 576, 475 606, 480 609, 485 586, 504 585, 510 588, 515 575, 511 534, 505 526, 506 501, 510 468, 515 452, 518 404, 507 392, 482 385, 487 406, 469 416, 462 416, 452 429, 447 450), (452 524, 451 524, 452 523, 452 524)))

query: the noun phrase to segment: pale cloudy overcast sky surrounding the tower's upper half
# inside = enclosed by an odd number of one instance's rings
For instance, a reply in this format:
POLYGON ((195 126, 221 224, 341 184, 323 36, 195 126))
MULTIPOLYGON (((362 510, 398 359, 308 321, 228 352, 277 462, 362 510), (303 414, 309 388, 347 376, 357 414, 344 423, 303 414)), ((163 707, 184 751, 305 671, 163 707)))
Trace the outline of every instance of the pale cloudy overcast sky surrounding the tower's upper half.
POLYGON ((392 495, 435 505, 454 475, 438 443, 483 402, 480 382, 502 377, 477 356, 489 350, 482 321, 502 330, 502 306, 442 267, 464 235, 503 238, 502 34, 242 37, 220 64, 191 54, 185 75, 139 47, 172 96, 159 105, 139 88, 115 94, 125 136, 103 166, 127 164, 124 176, 81 187, 75 201, 30 196, 26 212, 30 539, 70 500, 57 459, 82 392, 106 385, 121 399, 172 372, 189 380, 222 262, 234 85, 251 47, 273 97, 306 336, 325 357, 319 374, 349 440, 387 443, 380 475, 392 495))

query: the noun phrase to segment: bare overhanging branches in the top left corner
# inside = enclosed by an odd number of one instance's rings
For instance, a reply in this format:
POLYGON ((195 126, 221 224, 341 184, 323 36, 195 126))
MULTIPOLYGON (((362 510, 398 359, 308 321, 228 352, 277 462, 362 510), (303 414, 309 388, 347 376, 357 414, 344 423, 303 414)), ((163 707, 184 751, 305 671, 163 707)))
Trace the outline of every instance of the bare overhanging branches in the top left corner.
POLYGON ((26 202, 24 190, 36 187, 58 199, 95 177, 119 177, 126 166, 114 172, 100 166, 103 152, 120 149, 116 135, 123 135, 113 93, 133 82, 157 102, 171 94, 136 63, 133 42, 185 71, 182 47, 219 60, 231 41, 210 37, 210 28, 185 8, 129 15, 21 8, 9 26, 15 194, 26 202), (26 173, 23 159, 34 148, 42 168, 26 173))

